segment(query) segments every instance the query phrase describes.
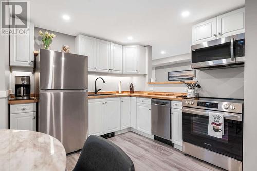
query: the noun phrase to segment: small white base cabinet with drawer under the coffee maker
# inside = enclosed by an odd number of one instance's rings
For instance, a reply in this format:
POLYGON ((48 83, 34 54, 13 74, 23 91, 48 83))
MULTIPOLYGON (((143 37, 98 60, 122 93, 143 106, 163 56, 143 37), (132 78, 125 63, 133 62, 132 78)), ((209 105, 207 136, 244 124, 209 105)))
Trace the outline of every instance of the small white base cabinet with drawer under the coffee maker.
POLYGON ((11 104, 10 129, 36 131, 36 103, 11 104))

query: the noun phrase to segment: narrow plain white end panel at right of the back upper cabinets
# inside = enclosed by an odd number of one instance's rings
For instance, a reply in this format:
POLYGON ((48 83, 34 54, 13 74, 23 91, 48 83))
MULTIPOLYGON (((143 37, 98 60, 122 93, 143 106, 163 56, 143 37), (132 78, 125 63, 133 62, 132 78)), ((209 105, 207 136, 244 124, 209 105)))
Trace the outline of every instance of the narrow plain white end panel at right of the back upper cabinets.
POLYGON ((138 45, 138 74, 146 73, 146 47, 138 45))

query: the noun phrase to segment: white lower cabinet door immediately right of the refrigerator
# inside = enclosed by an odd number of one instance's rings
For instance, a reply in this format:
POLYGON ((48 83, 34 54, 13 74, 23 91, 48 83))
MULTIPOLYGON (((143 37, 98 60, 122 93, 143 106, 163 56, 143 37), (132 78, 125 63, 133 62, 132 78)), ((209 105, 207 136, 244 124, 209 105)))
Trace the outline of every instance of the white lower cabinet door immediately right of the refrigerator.
POLYGON ((103 135, 103 99, 88 100, 88 136, 103 135))

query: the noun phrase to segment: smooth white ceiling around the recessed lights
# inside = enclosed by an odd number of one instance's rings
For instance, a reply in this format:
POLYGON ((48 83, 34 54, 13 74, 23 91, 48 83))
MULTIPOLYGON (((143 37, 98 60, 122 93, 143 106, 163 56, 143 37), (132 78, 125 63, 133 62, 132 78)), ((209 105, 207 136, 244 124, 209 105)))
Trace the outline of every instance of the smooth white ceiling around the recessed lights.
POLYGON ((189 53, 193 24, 244 4, 245 0, 33 0, 30 16, 36 27, 69 35, 152 45, 153 59, 158 59, 189 53), (183 18, 186 10, 190 16, 183 18), (64 14, 70 16, 68 22, 64 14))

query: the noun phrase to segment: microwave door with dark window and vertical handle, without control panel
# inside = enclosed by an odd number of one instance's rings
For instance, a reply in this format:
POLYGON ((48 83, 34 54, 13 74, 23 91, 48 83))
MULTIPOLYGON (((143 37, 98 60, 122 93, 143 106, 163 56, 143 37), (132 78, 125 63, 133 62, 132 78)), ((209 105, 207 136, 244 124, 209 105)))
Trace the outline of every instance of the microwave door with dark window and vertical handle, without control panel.
POLYGON ((235 64, 235 36, 224 37, 191 46, 192 68, 235 64))

